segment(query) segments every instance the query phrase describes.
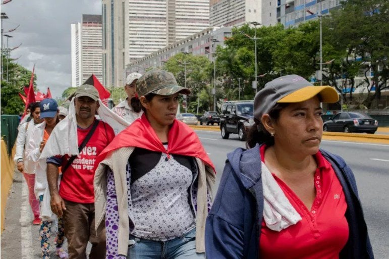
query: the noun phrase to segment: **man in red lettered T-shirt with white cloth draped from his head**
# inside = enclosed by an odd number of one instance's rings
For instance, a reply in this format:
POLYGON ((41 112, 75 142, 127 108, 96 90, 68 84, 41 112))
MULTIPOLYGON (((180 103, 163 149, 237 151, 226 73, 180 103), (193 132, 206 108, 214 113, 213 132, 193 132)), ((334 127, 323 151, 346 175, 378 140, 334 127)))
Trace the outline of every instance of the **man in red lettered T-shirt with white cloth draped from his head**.
POLYGON ((94 166, 98 154, 128 125, 103 105, 94 86, 81 85, 73 95, 69 115, 51 132, 40 155, 39 165, 46 166, 51 211, 64 220, 69 258, 86 258, 88 241, 92 243, 89 258, 105 258, 105 229, 94 230, 94 166), (101 121, 95 118, 96 112, 101 121))

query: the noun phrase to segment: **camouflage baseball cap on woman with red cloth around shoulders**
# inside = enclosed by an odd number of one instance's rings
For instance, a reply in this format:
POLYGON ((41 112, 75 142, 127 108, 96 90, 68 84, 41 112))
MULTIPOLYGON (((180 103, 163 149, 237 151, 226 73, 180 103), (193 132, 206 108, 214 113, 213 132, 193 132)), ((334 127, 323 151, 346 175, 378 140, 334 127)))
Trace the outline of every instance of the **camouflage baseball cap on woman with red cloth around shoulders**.
POLYGON ((188 88, 179 86, 174 75, 168 71, 152 69, 147 71, 136 82, 139 96, 149 93, 171 95, 175 93, 190 94, 188 88))

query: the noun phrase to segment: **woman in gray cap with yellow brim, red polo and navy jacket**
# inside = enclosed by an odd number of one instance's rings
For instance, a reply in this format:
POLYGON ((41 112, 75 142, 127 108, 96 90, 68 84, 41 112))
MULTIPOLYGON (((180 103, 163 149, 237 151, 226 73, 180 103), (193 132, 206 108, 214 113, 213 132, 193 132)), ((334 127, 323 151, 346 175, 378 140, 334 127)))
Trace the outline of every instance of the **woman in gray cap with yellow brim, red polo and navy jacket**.
POLYGON ((254 99, 248 150, 228 154, 206 223, 208 258, 373 258, 356 182, 319 149, 329 86, 288 75, 254 99))

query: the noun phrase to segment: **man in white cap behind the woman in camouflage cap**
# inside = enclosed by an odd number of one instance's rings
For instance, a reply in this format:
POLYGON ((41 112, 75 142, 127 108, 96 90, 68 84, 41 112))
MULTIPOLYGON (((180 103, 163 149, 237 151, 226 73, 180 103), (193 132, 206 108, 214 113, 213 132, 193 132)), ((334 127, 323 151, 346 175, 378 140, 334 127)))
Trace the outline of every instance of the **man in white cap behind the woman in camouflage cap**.
POLYGON ((141 74, 136 72, 127 76, 126 85, 124 86, 127 98, 112 109, 117 115, 130 123, 140 118, 143 114, 142 108, 139 105, 138 94, 135 90, 136 82, 141 76, 141 74))

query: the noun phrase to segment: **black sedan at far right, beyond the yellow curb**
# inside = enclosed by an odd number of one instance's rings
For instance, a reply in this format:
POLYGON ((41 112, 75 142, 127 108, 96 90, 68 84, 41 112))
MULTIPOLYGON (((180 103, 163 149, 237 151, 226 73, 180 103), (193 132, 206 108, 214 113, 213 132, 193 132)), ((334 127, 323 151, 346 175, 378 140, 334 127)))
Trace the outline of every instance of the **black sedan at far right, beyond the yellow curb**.
POLYGON ((323 131, 366 132, 374 134, 378 122, 366 114, 341 112, 323 124, 323 131))

